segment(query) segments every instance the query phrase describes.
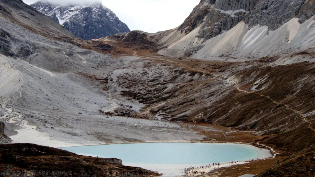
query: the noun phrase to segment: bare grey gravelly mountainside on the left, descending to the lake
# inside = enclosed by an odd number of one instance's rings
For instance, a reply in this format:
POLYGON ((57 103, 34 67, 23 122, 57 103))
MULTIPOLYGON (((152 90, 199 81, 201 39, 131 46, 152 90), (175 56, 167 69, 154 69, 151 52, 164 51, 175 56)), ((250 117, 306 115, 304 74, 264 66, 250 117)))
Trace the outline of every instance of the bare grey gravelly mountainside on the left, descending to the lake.
POLYGON ((177 124, 99 112, 139 111, 141 104, 117 93, 113 75, 129 62, 141 65, 137 58, 80 48, 70 32, 21 0, 0 1, 0 31, 0 120, 13 142, 65 147, 204 137, 177 124))

